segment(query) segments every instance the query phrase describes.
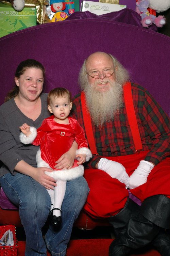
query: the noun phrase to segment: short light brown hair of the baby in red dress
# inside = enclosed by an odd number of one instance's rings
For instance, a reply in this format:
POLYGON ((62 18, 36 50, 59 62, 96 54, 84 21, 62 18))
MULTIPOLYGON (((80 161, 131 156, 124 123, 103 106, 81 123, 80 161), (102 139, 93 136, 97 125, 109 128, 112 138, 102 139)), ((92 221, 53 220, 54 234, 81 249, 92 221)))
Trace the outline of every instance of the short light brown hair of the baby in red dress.
POLYGON ((48 97, 47 97, 47 104, 50 105, 51 102, 51 98, 56 98, 56 97, 69 97, 69 100, 71 101, 71 93, 63 87, 58 87, 58 88, 54 88, 52 89, 49 93, 48 93, 48 97))

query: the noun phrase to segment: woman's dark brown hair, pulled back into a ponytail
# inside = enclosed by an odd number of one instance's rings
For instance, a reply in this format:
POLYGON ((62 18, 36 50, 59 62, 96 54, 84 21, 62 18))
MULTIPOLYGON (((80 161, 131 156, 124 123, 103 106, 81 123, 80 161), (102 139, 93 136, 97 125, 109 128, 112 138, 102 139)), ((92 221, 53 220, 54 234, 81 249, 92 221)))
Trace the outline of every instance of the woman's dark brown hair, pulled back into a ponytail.
MULTIPOLYGON (((22 61, 18 65, 16 72, 15 72, 15 77, 20 78, 20 76, 24 74, 24 72, 26 71, 27 68, 39 68, 42 70, 43 76, 45 76, 44 66, 40 62, 38 62, 34 59, 28 59, 28 60, 22 61)), ((13 89, 7 93, 4 102, 16 97, 18 95, 18 93, 19 93, 19 87, 15 84, 13 89)))

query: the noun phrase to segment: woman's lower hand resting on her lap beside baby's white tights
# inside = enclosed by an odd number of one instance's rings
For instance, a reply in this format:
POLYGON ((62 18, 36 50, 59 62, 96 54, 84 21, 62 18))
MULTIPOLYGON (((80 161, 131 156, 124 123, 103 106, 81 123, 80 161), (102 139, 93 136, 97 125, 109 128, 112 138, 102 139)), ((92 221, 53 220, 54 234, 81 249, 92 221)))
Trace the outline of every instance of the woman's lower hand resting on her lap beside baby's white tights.
POLYGON ((46 189, 54 190, 54 187, 56 187, 57 184, 52 177, 44 173, 45 171, 53 172, 53 170, 47 167, 39 167, 35 168, 35 172, 32 174, 31 177, 35 179, 37 182, 39 182, 41 185, 43 185, 46 189))

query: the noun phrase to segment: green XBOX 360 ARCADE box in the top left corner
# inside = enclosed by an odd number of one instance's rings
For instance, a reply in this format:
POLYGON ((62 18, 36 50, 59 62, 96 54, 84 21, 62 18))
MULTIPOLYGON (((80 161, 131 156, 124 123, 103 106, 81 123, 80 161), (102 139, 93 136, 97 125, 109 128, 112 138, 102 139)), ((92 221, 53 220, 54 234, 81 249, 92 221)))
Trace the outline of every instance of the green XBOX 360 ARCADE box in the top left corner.
POLYGON ((0 3, 0 37, 35 26, 36 8, 24 7, 16 11, 12 6, 0 3))

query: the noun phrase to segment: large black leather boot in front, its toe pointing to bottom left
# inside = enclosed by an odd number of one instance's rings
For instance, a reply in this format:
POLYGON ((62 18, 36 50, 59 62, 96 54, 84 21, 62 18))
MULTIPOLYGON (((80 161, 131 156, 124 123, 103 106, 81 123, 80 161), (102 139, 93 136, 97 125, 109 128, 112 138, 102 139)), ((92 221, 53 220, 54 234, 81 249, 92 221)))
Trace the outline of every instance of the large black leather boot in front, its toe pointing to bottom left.
MULTIPOLYGON (((163 195, 147 198, 136 217, 132 217, 109 247, 109 256, 125 256, 131 249, 138 249, 152 242, 160 227, 169 228, 170 199, 163 195), (159 226, 158 226, 159 225, 159 226)), ((161 246, 160 246, 161 247, 161 246)))

